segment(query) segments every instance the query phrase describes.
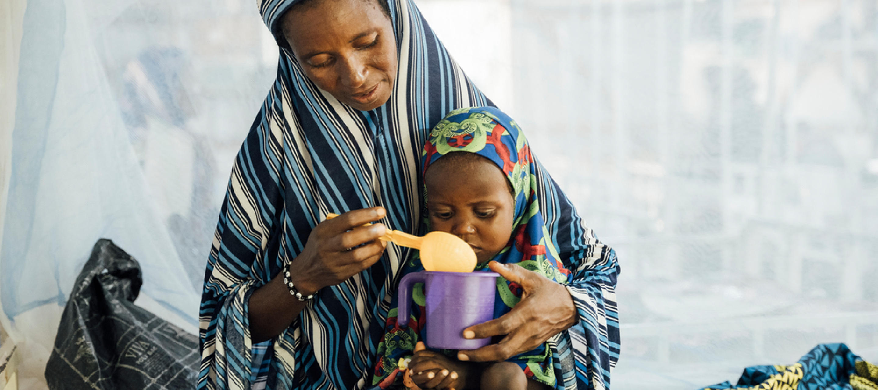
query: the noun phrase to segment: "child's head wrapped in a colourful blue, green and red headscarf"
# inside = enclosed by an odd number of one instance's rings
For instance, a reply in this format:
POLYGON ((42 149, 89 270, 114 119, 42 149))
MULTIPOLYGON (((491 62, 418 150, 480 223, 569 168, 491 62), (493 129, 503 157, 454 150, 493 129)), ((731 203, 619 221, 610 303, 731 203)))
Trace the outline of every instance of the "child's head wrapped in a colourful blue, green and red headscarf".
POLYGON ((449 112, 430 131, 421 164, 430 228, 470 243, 477 269, 496 260, 569 281, 543 219, 543 205, 564 194, 543 177, 515 120, 494 107, 449 112))

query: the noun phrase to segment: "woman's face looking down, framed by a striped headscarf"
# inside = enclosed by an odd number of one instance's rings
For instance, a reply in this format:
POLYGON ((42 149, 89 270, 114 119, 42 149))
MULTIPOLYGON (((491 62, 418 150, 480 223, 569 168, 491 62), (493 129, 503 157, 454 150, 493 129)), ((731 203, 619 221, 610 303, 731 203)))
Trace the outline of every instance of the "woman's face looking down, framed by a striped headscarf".
POLYGON ((284 15, 282 28, 305 75, 357 110, 390 98, 396 77, 393 25, 375 0, 317 0, 284 15))

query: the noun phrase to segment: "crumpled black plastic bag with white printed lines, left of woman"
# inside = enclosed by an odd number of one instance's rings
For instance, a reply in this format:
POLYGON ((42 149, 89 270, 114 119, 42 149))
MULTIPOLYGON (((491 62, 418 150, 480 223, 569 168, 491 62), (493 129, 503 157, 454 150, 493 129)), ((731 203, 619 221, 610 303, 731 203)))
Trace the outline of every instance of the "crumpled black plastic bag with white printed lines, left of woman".
POLYGON ((46 365, 52 390, 194 389, 198 337, 134 305, 137 260, 101 239, 76 278, 46 365))

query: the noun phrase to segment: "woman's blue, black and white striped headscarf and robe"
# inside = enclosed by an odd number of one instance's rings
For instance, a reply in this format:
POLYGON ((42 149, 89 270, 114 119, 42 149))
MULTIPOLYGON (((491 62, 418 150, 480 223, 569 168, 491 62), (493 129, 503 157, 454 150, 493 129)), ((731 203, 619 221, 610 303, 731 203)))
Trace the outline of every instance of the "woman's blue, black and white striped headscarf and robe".
MULTIPOLYGON (((260 2, 272 31, 296 1, 260 2)), ((430 128, 453 109, 491 105, 412 1, 389 4, 399 73, 390 100, 371 112, 318 89, 281 48, 277 80, 235 159, 214 235, 200 311, 198 388, 347 390, 366 388, 371 379, 407 249, 390 245, 370 269, 320 290, 264 353, 253 350, 248 300, 278 275, 284 259, 299 255, 327 213, 384 206, 387 226, 421 234, 420 157, 430 128)), ((568 269, 595 272, 593 282, 570 287, 583 331, 556 337, 558 365, 570 373, 567 388, 606 388, 618 356, 615 254, 594 240, 563 195, 546 201, 553 206, 552 237, 573 259, 568 269)))

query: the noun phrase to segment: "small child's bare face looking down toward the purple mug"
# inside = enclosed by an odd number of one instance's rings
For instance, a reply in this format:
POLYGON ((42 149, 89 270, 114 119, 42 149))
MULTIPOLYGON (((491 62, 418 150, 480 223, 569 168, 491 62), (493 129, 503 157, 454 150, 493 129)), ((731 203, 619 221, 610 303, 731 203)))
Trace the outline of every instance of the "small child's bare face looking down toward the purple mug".
POLYGON ((490 260, 512 236, 515 201, 506 177, 482 158, 467 164, 437 162, 424 178, 430 227, 470 244, 479 263, 490 260))

